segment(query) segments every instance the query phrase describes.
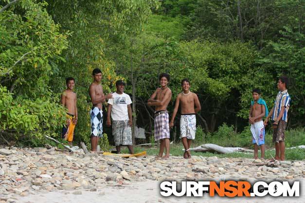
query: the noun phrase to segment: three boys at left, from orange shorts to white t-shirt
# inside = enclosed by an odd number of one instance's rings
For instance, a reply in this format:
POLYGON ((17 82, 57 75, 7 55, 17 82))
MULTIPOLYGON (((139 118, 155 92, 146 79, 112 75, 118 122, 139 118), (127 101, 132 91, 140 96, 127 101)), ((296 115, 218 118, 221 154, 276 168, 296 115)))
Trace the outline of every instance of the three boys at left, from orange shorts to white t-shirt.
MULTIPOLYGON (((102 71, 95 68, 92 71, 93 83, 89 86, 89 95, 92 102, 90 109, 90 139, 91 151, 97 151, 99 138, 103 136, 103 111, 102 105, 108 100, 108 126, 112 125, 112 135, 117 153, 121 152, 121 145, 128 147, 129 152, 133 154, 131 126, 132 112, 131 99, 124 93, 125 83, 122 80, 116 82, 116 92, 105 95, 101 85, 102 71)), ((67 89, 61 95, 61 103, 68 109, 67 123, 63 127, 62 135, 70 144, 73 140, 73 131, 77 122, 76 94, 72 91, 75 80, 74 78, 66 79, 67 89)))

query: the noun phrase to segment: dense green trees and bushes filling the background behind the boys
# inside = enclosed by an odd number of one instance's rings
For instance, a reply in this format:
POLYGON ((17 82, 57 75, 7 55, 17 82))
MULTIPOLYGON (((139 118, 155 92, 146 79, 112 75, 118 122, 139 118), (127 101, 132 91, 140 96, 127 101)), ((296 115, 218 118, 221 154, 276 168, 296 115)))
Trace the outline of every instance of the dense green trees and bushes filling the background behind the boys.
MULTIPOLYGON (((0 0, 0 8, 8 2, 0 0)), ((102 70, 105 93, 115 91, 116 80, 127 82, 126 93, 133 94, 136 105, 133 115, 143 118, 136 123, 150 123, 149 132, 153 109, 146 101, 161 72, 171 75, 172 101, 181 79, 190 79, 202 107, 198 124, 210 131, 198 127, 198 142, 252 147, 251 90, 260 88, 271 109, 283 74, 291 79, 288 128, 303 127, 304 3, 19 0, 0 13, 0 130, 6 138, 32 145, 41 144, 45 134, 58 136, 65 120, 58 99, 65 78, 72 76, 78 99, 74 141, 89 144, 88 87, 94 68, 102 70)), ((288 146, 304 143, 298 132, 287 131, 288 146)))

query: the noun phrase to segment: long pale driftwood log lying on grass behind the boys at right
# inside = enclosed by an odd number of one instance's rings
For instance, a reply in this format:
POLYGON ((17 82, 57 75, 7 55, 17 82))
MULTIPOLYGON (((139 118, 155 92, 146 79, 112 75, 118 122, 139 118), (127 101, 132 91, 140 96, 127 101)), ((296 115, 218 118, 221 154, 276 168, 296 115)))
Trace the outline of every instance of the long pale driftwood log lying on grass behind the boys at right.
MULTIPOLYGON (((289 147, 286 149, 294 149, 297 147, 289 147)), ((300 145, 298 148, 305 149, 305 145, 300 145)), ((248 150, 242 147, 221 147, 215 144, 203 144, 195 148, 190 148, 193 152, 218 152, 218 153, 232 153, 232 152, 251 152, 254 150, 248 150)), ((184 149, 183 149, 184 151, 184 149)))

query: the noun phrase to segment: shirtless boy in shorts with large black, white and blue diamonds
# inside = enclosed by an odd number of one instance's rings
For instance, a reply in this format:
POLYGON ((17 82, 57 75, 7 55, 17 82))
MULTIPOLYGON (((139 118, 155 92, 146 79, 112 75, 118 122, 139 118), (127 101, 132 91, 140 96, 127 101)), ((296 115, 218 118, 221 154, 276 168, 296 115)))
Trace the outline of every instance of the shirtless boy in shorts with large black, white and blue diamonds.
POLYGON ((92 102, 90 110, 90 124, 91 124, 91 151, 96 152, 99 138, 103 136, 103 111, 102 102, 106 99, 111 99, 112 95, 104 95, 103 87, 100 84, 102 80, 102 71, 95 68, 92 71, 93 83, 89 87, 89 95, 92 102))

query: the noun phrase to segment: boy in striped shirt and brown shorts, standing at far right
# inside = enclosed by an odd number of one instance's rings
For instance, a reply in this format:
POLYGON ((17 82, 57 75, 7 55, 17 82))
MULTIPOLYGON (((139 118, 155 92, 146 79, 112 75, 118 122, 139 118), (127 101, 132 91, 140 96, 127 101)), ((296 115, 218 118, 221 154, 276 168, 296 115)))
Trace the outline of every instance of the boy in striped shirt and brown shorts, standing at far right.
POLYGON ((288 78, 281 76, 277 83, 277 88, 280 90, 276 96, 274 106, 271 109, 264 124, 267 125, 269 118, 273 121, 273 137, 272 142, 275 145, 275 159, 285 160, 285 129, 287 126, 287 113, 290 105, 290 96, 287 92, 288 78))

